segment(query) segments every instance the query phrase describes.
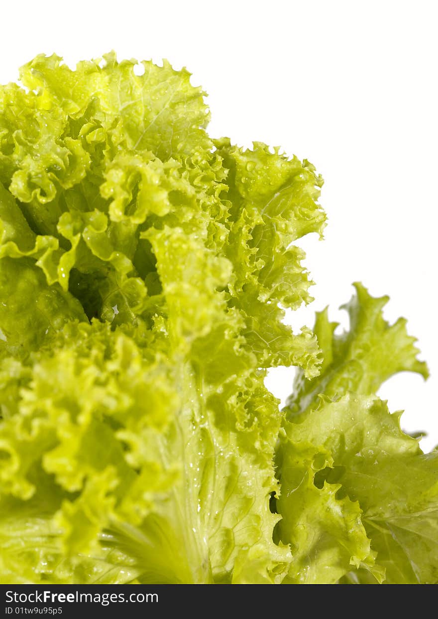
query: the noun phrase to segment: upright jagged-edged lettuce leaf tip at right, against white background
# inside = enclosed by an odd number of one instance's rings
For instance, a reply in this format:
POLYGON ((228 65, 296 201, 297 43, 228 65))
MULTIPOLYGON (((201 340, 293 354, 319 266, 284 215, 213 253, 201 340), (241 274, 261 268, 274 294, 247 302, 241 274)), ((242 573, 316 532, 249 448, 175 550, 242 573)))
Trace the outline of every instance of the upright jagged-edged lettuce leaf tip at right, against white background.
POLYGON ((390 376, 411 371, 427 378, 424 361, 417 359, 416 339, 406 331, 406 319, 390 325, 382 309, 389 297, 374 298, 356 283, 355 295, 342 309, 348 311, 349 331, 336 334, 337 322, 330 322, 327 308, 316 313, 313 331, 322 350, 321 372, 306 381, 298 370, 293 393, 287 401, 288 417, 300 416, 318 401, 319 394, 337 399, 348 391, 371 395, 390 376))

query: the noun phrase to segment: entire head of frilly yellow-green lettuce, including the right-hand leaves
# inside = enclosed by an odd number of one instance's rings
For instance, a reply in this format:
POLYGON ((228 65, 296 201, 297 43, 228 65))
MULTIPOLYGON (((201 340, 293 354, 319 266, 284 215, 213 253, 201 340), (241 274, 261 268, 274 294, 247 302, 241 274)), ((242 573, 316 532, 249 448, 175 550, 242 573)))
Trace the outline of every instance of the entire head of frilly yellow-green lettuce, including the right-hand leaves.
POLYGON ((136 64, 0 88, 0 581, 436 582, 438 452, 376 397, 427 377, 405 321, 356 284, 349 332, 284 324, 321 176, 136 64))

